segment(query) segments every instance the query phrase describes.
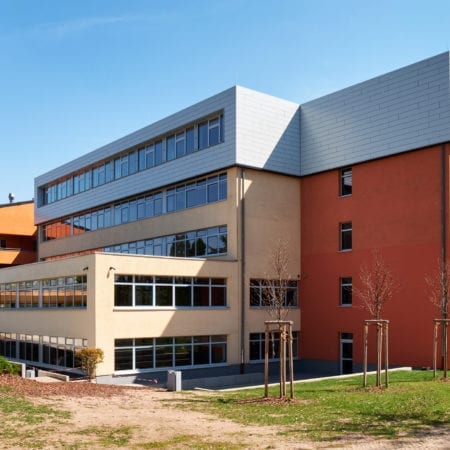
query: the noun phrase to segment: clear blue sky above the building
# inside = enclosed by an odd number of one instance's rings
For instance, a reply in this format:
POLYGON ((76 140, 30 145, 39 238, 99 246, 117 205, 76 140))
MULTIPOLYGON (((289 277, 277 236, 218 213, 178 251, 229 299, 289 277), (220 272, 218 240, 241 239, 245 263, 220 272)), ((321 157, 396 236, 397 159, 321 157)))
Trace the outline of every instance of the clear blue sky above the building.
POLYGON ((0 203, 240 84, 305 102, 449 50, 449 0, 0 0, 0 203))

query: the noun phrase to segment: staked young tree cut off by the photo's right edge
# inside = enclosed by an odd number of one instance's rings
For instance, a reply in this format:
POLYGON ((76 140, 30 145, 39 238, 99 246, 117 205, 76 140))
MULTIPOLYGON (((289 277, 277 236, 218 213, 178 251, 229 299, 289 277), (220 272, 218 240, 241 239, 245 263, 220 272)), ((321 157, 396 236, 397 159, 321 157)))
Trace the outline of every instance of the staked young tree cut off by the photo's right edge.
POLYGON ((447 349, 447 325, 448 325, 448 305, 450 297, 450 266, 447 261, 439 258, 435 271, 432 275, 425 276, 425 282, 428 286, 428 298, 431 303, 439 309, 440 319, 435 320, 435 349, 433 365, 436 370, 437 353, 437 326, 442 325, 442 369, 444 378, 447 378, 448 371, 448 349, 447 349))

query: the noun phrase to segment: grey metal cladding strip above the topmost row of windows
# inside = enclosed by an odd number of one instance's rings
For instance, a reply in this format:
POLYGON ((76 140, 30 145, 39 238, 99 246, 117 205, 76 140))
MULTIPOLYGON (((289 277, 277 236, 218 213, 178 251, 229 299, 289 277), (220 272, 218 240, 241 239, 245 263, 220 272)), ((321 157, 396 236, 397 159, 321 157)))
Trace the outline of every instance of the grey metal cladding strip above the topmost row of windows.
MULTIPOLYGON (((133 148, 143 142, 157 138, 163 134, 170 133, 172 130, 183 127, 195 120, 201 119, 211 113, 224 110, 225 140, 234 136, 235 124, 235 97, 236 88, 230 88, 219 94, 203 100, 195 105, 189 106, 169 117, 159 120, 147 127, 137 130, 127 136, 124 136, 110 144, 91 151, 73 161, 68 162, 54 170, 51 170, 35 179, 35 188, 50 183, 53 180, 61 178, 67 174, 83 169, 84 167, 95 164, 113 155, 133 148)), ((35 193, 36 194, 36 193, 35 193)))

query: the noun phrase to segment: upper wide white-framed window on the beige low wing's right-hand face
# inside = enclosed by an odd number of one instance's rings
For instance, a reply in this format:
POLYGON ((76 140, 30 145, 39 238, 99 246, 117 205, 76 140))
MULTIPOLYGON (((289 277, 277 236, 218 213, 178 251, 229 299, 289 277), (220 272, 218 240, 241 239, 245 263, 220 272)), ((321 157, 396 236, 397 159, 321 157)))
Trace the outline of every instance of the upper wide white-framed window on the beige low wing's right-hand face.
POLYGON ((214 308, 226 305, 224 278, 115 275, 116 307, 214 308))

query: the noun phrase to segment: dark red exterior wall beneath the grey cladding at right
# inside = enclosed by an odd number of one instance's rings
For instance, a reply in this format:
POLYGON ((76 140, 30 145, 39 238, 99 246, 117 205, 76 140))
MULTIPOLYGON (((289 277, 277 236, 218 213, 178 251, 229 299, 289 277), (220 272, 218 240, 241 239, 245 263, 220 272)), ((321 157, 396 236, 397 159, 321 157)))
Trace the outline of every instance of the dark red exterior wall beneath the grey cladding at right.
MULTIPOLYGON (((449 151, 447 144, 447 165, 449 151)), ((363 320, 371 317, 355 295, 352 307, 340 306, 340 277, 352 277, 358 287, 360 267, 379 250, 400 284, 383 310, 390 320, 390 363, 431 366, 432 321, 439 313, 424 276, 440 255, 440 147, 353 166, 348 197, 339 197, 339 177, 333 170, 301 180, 301 356, 339 361, 339 333, 350 332, 354 362, 362 362, 363 320), (347 252, 339 251, 342 222, 352 222, 347 252)), ((369 356, 374 362, 374 353, 369 356)))

